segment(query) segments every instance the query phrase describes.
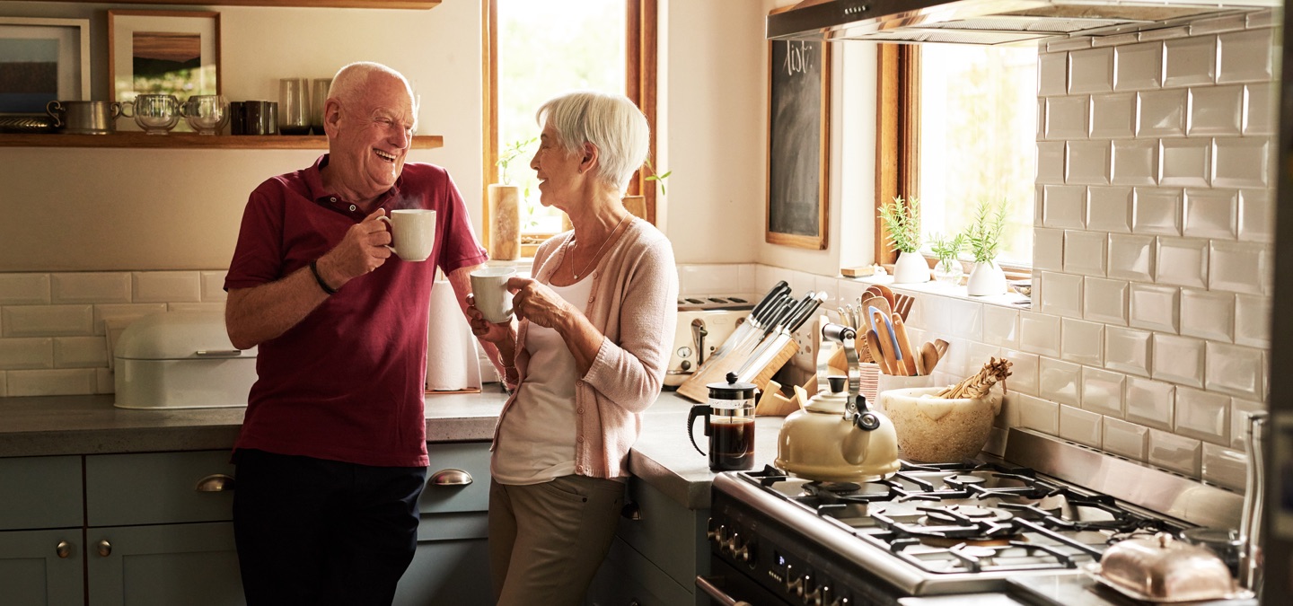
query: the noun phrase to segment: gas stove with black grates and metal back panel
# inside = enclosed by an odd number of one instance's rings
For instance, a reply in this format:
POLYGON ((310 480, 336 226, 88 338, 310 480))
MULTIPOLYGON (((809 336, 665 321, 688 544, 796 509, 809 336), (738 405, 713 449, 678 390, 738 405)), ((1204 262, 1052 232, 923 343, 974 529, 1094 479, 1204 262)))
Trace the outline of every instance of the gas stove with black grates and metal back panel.
POLYGON ((724 473, 709 539, 725 588, 702 589, 760 606, 999 592, 1009 579, 1082 575, 1127 538, 1237 527, 1241 507, 1223 488, 1019 429, 1003 457, 904 463, 869 483, 724 473))

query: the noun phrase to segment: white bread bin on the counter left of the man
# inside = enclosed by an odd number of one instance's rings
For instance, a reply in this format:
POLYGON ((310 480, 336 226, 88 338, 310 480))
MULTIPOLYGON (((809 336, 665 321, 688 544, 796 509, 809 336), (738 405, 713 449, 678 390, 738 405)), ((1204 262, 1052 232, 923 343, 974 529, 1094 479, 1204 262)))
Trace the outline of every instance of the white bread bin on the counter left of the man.
POLYGON ((131 323, 114 348, 118 408, 247 406, 256 349, 229 342, 221 311, 163 311, 131 323))

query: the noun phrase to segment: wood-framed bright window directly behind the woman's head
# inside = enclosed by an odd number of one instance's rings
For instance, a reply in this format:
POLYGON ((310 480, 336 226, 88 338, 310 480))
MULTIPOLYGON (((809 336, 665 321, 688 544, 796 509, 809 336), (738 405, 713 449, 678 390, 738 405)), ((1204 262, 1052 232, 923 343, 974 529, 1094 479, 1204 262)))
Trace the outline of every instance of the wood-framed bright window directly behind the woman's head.
MULTIPOLYGON (((643 109, 654 134, 654 0, 489 0, 485 12, 486 185, 499 181, 502 152, 538 137, 539 105, 566 90, 622 92, 643 109)), ((538 202, 529 168, 535 147, 526 146, 507 169, 526 198, 521 231, 529 243, 562 229, 561 212, 538 202)), ((628 193, 646 193, 646 218, 653 221, 654 189, 641 187, 641 177, 628 193)), ((487 231, 487 220, 485 225, 487 231)))

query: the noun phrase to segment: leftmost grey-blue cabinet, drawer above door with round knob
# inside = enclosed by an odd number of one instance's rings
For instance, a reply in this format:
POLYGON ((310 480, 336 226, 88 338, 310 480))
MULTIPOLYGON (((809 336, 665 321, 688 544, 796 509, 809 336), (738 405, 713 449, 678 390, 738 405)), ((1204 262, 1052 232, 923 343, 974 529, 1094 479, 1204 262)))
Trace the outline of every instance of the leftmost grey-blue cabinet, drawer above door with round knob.
POLYGON ((0 459, 0 588, 12 606, 84 602, 79 456, 0 459))

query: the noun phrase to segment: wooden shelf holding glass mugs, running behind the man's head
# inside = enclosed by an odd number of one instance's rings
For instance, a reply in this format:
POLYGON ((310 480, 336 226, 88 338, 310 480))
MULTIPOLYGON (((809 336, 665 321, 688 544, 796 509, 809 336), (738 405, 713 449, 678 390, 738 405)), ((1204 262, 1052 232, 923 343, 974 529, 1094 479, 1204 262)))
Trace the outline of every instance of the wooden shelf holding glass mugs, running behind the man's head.
MULTIPOLYGON (((419 134, 411 149, 431 150, 445 145, 438 134, 419 134)), ((327 137, 292 134, 0 134, 0 147, 137 147, 190 150, 326 150, 327 137)))

